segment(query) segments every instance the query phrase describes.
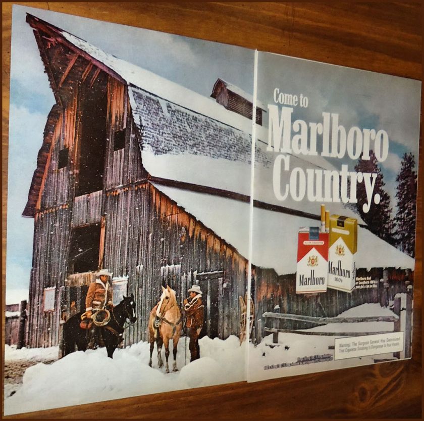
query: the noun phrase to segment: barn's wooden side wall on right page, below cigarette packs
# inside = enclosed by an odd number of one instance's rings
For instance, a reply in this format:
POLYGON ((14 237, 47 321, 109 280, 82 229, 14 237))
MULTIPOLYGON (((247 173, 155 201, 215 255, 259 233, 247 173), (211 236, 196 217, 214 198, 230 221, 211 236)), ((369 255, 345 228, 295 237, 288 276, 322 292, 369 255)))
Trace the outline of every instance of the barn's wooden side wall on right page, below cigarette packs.
MULTIPOLYGON (((413 272, 396 268, 357 269, 356 277, 370 277, 377 281, 377 288, 355 288, 351 293, 328 289, 326 293, 296 294, 295 273, 278 276, 273 269, 256 268, 252 284, 252 296, 256 308, 254 320, 255 332, 257 320, 266 311, 280 306, 281 313, 301 314, 314 317, 335 317, 351 307, 364 303, 380 303, 387 294, 392 301, 397 293, 405 293, 406 287, 413 284, 413 272), (385 285, 386 284, 386 285, 385 285)), ((262 320, 262 329, 264 326, 262 320)), ((308 329, 315 324, 296 320, 284 320, 284 328, 308 329)), ((282 326, 283 327, 283 326, 282 326)), ((262 332, 262 335, 264 333, 262 332)))

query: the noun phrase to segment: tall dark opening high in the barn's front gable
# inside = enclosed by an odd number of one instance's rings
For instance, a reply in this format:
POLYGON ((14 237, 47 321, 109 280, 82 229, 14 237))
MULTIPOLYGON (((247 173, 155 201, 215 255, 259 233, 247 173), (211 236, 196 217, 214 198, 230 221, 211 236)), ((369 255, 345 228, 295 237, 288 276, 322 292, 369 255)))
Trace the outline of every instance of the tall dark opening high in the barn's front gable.
POLYGON ((91 90, 81 101, 81 148, 75 196, 103 189, 107 96, 91 90))

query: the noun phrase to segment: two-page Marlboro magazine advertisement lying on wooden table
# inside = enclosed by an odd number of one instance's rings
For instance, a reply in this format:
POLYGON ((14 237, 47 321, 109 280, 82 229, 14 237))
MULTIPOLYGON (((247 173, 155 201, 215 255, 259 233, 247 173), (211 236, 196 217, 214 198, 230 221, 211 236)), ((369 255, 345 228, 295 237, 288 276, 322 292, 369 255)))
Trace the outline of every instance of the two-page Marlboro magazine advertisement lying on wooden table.
POLYGON ((14 6, 5 414, 410 358, 419 99, 14 6))

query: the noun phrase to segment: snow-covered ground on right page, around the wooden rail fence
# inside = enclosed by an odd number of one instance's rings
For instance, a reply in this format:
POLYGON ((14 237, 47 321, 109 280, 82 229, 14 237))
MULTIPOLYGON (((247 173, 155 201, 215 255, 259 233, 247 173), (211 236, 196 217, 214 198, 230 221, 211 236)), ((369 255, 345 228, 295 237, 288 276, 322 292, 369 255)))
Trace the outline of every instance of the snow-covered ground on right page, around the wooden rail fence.
MULTIPOLYGON (((401 294, 401 307, 405 306, 405 294, 401 294)), ((364 316, 393 316, 389 308, 380 304, 362 304, 350 308, 339 314, 338 317, 364 317, 364 316)), ((404 312, 401 313, 401 331, 405 329, 404 312)), ((359 323, 329 323, 305 329, 308 332, 393 332, 393 322, 359 322, 359 323)), ((358 365, 373 364, 375 359, 392 359, 393 353, 346 358, 334 360, 334 341, 339 336, 315 336, 293 333, 279 333, 278 346, 273 344, 273 335, 264 337, 260 344, 254 347, 249 344, 248 349, 248 381, 259 381, 277 377, 294 376, 308 372, 334 370, 338 368, 354 367, 358 365), (270 346, 271 345, 271 346, 270 346), (314 362, 316 356, 322 360, 314 362), (291 364, 298 358, 309 359, 303 365, 281 366, 291 364), (280 364, 280 365, 278 365, 280 364), (273 368, 268 368, 274 366, 273 368), (267 369, 265 369, 267 367, 267 369)), ((401 353, 404 358, 404 353, 401 353)))

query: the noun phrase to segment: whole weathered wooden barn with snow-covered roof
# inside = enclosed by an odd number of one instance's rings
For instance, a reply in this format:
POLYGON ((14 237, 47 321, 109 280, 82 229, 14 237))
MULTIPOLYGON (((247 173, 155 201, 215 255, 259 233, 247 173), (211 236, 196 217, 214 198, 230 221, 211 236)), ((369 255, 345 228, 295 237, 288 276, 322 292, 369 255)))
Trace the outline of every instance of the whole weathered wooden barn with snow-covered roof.
MULTIPOLYGON (((229 84, 220 79, 215 102, 34 16, 27 22, 56 98, 23 213, 35 219, 29 345, 59 343, 61 321, 84 308, 98 267, 114 272, 115 301, 135 296, 138 320, 126 344, 146 339, 148 313, 166 283, 179 302, 192 283, 200 285, 203 334, 238 335, 238 297, 248 283, 250 99, 226 108, 219 98, 236 101, 242 92, 225 93, 229 84)), ((255 157, 270 169, 263 145, 255 157)), ((328 165, 292 159, 297 166, 328 165)), ((256 314, 276 304, 299 314, 318 308, 337 314, 353 302, 346 293, 294 294, 298 226, 313 225, 319 216, 318 209, 287 205, 273 203, 266 191, 255 195, 256 222, 276 219, 270 232, 254 223, 256 314)), ((402 253, 365 228, 360 233, 384 248, 393 266, 405 266, 402 253)), ((363 272, 374 273, 373 267, 380 266, 366 263, 363 272)), ((375 299, 371 292, 358 297, 355 303, 375 299)))

